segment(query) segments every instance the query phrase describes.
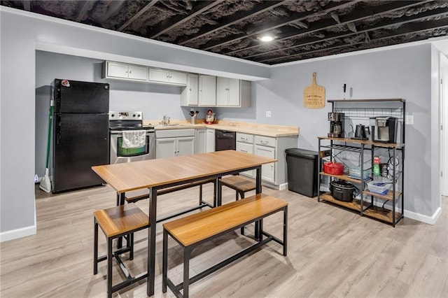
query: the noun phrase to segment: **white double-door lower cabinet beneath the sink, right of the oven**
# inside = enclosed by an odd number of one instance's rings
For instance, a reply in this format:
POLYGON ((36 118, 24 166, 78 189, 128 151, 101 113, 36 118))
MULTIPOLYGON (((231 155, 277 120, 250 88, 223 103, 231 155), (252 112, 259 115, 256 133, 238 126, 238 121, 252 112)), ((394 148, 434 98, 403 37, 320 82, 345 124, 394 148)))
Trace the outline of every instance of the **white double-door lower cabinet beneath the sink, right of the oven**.
POLYGON ((155 158, 192 155, 195 153, 195 129, 155 131, 155 158))

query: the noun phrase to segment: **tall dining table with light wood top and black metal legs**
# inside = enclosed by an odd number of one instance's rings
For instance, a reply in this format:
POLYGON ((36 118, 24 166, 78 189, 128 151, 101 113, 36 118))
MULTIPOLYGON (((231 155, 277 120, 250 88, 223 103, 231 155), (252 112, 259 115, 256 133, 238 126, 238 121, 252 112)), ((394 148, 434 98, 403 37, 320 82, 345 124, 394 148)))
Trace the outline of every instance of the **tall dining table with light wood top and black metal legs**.
MULTIPOLYGON (((167 187, 192 183, 204 178, 221 178, 255 169, 255 192, 261 192, 261 166, 276 159, 251 155, 235 150, 201 153, 123 164, 92 166, 92 169, 124 198, 126 192, 148 189, 148 296, 154 295, 155 224, 157 222, 157 191, 167 187)), ((221 205, 221 187, 217 189, 217 204, 221 205)))

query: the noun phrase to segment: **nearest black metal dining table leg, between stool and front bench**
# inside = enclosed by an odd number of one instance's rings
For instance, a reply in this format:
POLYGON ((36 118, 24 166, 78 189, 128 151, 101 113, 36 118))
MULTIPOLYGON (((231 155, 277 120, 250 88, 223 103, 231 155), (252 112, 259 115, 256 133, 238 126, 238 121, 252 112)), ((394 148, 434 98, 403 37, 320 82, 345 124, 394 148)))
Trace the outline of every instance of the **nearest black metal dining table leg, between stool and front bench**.
POLYGON ((149 224, 148 229, 148 281, 147 294, 154 295, 155 280, 155 222, 157 221, 157 190, 149 188, 149 224))

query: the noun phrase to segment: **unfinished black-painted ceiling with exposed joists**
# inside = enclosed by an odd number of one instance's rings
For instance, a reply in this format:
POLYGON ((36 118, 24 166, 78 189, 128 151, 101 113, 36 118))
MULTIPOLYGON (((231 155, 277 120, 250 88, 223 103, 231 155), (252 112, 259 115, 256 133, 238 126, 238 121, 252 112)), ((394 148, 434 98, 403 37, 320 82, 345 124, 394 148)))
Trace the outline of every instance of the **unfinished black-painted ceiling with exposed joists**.
POLYGON ((264 64, 421 41, 448 31, 447 0, 0 2, 264 64), (263 34, 274 41, 260 41, 263 34))

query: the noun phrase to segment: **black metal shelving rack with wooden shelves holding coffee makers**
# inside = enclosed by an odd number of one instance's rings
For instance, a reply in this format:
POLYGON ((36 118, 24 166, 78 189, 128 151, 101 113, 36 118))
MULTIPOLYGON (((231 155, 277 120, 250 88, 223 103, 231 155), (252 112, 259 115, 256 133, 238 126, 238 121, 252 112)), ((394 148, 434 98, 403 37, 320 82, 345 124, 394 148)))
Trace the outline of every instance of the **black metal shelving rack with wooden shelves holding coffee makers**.
MULTIPOLYGON (((360 154, 360 179, 350 178, 347 175, 330 175, 328 173, 324 173, 320 171, 318 173, 318 201, 325 201, 326 203, 330 203, 332 205, 336 205, 342 208, 346 208, 351 211, 359 212, 361 216, 367 216, 369 218, 374 218, 381 222, 386 222, 393 227, 399 222, 402 218, 404 218, 404 173, 405 173, 405 100, 404 99, 340 99, 340 100, 329 100, 328 102, 332 103, 332 111, 335 111, 335 104, 339 102, 344 103, 356 103, 356 104, 377 104, 384 102, 398 103, 399 104, 399 113, 400 118, 402 120, 402 143, 377 143, 372 141, 362 141, 356 139, 344 139, 344 138, 330 138, 330 137, 318 137, 318 150, 319 152, 322 149, 330 149, 331 152, 333 150, 339 151, 349 151, 349 152, 357 152, 360 154), (323 141, 327 142, 323 144, 323 141), (372 163, 375 150, 379 148, 386 148, 388 150, 392 150, 391 158, 393 160, 392 163, 392 189, 388 191, 387 194, 377 194, 374 192, 370 192, 365 190, 365 183, 371 180, 368 178, 367 180, 363 179, 364 176, 364 152, 365 150, 369 150, 372 156, 372 163), (400 169, 397 169, 397 164, 395 161, 398 158, 398 152, 400 152, 400 169), (337 178, 339 180, 345 180, 350 183, 355 183, 360 185, 360 199, 354 199, 352 202, 338 201, 333 198, 329 192, 321 194, 321 176, 329 176, 330 180, 337 178), (400 178, 400 179, 398 179, 400 178), (362 180, 361 180, 362 179, 362 180), (400 183, 397 181, 400 180, 400 183), (398 184, 398 187, 397 187, 398 184), (370 197, 370 200, 367 198, 370 197), (383 201, 383 206, 376 206, 374 204, 374 198, 381 199, 383 201), (384 208, 384 205, 387 201, 392 202, 391 209, 384 208), (397 202, 400 204, 401 213, 397 211, 397 202)), ((371 108, 370 110, 374 110, 375 108, 371 108)), ((379 106, 376 108, 379 110, 379 113, 383 111, 383 108, 379 106)), ((390 152, 390 151, 389 151, 390 152)), ((330 155, 330 160, 332 160, 332 154, 330 155)), ((318 157, 318 169, 321 168, 322 157, 319 155, 318 157)), ((372 173, 370 175, 372 177, 372 173)))

